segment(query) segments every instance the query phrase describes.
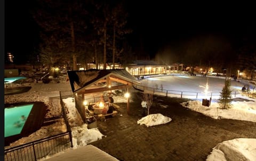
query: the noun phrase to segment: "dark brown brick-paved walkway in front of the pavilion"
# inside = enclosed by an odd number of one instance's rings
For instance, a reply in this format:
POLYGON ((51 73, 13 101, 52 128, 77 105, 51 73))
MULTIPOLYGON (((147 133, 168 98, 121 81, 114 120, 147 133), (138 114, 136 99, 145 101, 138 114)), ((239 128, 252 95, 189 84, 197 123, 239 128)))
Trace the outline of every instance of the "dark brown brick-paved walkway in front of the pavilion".
POLYGON ((137 124, 142 117, 140 99, 131 103, 130 115, 126 114, 126 103, 119 103, 122 115, 97 121, 106 138, 91 144, 120 160, 205 160, 220 142, 256 138, 256 123, 216 120, 182 107, 184 101, 154 96, 150 114, 161 113, 172 121, 153 127, 137 124))

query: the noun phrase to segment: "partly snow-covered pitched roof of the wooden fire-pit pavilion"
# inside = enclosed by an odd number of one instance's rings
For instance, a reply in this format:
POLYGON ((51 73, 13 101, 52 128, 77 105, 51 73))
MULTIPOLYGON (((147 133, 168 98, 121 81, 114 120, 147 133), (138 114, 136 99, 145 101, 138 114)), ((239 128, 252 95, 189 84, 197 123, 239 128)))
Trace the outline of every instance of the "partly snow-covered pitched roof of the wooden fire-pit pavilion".
POLYGON ((125 69, 89 69, 68 71, 69 82, 74 93, 111 75, 130 83, 139 83, 136 81, 135 77, 133 77, 125 69))

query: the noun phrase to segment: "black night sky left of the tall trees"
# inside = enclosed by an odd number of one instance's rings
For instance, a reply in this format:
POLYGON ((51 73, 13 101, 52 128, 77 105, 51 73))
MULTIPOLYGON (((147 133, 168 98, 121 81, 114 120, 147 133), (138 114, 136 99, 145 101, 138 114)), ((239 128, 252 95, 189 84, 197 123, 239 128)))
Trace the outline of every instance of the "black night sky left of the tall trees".
POLYGON ((39 38, 29 7, 29 2, 5 1, 5 54, 11 52, 21 62, 26 62, 24 55, 34 51, 39 38))

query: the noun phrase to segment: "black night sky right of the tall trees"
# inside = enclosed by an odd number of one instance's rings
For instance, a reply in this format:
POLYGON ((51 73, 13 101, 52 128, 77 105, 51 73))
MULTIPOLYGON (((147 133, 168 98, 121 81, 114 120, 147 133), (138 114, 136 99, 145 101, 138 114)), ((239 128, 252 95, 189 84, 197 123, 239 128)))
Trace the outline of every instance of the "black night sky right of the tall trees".
POLYGON ((165 46, 175 47, 191 38, 210 34, 234 44, 244 36, 255 35, 256 13, 250 4, 183 2, 181 5, 150 1, 131 8, 134 34, 143 37, 147 46, 145 50, 150 55, 165 46))

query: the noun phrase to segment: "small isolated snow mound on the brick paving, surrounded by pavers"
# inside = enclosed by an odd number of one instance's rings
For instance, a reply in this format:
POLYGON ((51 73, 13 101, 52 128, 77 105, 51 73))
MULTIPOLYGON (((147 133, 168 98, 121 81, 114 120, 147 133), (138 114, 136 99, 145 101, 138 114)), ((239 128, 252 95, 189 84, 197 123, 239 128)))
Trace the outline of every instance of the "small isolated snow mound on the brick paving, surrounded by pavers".
POLYGON ((142 117, 137 121, 138 124, 145 124, 147 127, 155 126, 160 124, 166 124, 171 122, 170 117, 163 116, 162 114, 150 114, 148 116, 142 117))

